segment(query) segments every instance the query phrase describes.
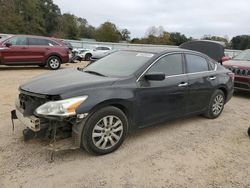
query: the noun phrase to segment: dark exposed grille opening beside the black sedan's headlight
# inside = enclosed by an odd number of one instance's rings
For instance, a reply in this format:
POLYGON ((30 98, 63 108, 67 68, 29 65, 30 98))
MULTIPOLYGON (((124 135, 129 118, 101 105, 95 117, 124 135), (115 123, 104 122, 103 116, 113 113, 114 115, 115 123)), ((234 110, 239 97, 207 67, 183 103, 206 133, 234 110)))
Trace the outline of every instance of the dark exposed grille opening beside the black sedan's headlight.
POLYGON ((47 102, 47 99, 45 98, 39 98, 24 93, 19 94, 19 107, 23 109, 24 116, 34 115, 36 108, 45 102, 47 102))

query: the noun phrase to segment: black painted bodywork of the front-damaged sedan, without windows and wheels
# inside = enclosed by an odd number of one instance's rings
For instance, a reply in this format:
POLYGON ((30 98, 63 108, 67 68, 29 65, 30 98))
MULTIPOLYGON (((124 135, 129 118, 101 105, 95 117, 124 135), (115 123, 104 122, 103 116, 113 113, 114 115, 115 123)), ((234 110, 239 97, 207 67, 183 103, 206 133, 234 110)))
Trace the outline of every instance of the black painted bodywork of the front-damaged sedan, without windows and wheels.
MULTIPOLYGON (((176 51, 186 53, 185 50, 176 51)), ((197 52, 188 52, 208 58, 197 52)), ((219 64, 216 70, 207 73, 184 72, 167 76, 163 81, 145 80, 147 69, 162 56, 172 53, 175 50, 155 55, 131 76, 104 77, 67 69, 35 78, 23 84, 20 91, 60 96, 60 99, 87 95, 87 100, 76 109, 77 114, 91 114, 103 106, 117 106, 128 116, 132 129, 193 113, 202 114, 216 89, 225 90, 226 101, 231 98, 233 80, 228 75, 230 71, 219 64), (211 76, 216 76, 216 79, 209 80, 211 76), (187 85, 180 87, 183 83, 187 85)))

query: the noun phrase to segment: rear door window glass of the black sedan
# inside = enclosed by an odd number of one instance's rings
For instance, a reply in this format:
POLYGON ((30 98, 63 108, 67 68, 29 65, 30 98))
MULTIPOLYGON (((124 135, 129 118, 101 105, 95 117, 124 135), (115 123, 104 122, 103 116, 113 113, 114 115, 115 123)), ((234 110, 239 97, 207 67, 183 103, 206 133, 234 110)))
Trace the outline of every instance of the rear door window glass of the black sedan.
POLYGON ((207 60, 197 55, 186 54, 187 73, 208 71, 207 60))

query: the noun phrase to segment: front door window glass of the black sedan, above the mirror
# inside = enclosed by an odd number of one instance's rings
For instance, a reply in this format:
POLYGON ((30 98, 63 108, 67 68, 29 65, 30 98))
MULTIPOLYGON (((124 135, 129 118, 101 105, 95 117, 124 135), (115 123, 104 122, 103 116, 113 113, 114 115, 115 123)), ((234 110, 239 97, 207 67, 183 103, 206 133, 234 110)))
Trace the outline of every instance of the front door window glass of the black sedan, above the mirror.
POLYGON ((163 72, 166 76, 183 74, 182 55, 168 55, 156 62, 149 72, 163 72))

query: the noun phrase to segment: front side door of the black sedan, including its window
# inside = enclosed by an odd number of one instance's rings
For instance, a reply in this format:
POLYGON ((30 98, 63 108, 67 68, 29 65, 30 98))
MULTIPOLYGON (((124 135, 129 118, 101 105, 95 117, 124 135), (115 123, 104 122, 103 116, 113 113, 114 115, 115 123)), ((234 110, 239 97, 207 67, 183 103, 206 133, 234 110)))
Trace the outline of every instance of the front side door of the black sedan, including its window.
POLYGON ((147 73, 150 72, 163 72, 166 78, 163 81, 141 79, 138 82, 136 99, 139 127, 186 114, 188 79, 183 74, 182 54, 162 57, 147 73))

